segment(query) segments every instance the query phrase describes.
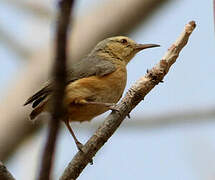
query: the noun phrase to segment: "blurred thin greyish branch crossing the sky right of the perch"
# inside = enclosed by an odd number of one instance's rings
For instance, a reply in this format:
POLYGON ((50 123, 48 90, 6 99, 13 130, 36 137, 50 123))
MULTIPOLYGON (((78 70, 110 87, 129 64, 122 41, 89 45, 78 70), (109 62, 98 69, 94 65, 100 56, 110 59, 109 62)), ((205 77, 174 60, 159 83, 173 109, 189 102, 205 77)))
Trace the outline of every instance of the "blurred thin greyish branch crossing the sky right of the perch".
MULTIPOLYGON (((177 126, 180 124, 198 125, 200 123, 213 123, 215 122, 215 108, 196 108, 186 109, 183 111, 172 111, 168 113, 144 116, 143 118, 136 118, 132 121, 126 121, 124 124, 127 129, 143 129, 143 128, 162 128, 168 126, 177 126)), ((94 127, 97 124, 94 124, 94 127)), ((98 125, 96 126, 98 127, 98 125)))

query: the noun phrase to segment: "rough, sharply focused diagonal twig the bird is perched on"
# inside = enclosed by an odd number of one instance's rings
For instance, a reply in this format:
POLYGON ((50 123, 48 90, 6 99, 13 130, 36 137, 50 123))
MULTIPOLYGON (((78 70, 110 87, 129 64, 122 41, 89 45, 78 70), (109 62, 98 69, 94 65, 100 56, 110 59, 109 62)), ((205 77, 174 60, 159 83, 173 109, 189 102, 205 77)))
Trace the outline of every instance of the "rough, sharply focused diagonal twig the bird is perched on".
POLYGON ((159 82, 162 82, 170 66, 176 61, 180 51, 187 44, 188 38, 195 26, 194 21, 189 22, 176 42, 168 49, 162 60, 128 90, 125 97, 117 105, 119 112, 112 112, 105 119, 104 123, 84 145, 84 153, 78 152, 69 163, 61 180, 75 180, 131 110, 144 99, 152 88, 159 82))

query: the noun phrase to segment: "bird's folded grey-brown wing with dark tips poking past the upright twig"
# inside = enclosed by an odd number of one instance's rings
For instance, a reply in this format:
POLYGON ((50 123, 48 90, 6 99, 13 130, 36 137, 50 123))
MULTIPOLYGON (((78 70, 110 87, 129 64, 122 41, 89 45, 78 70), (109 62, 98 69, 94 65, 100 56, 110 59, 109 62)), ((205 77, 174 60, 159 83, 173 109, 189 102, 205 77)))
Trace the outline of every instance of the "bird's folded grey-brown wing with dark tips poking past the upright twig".
MULTIPOLYGON (((90 76, 105 76, 115 70, 116 67, 112 62, 99 57, 88 56, 79 62, 72 64, 72 68, 68 71, 67 83, 90 76)), ((33 103, 32 107, 35 108, 43 102, 52 91, 53 85, 52 82, 49 81, 41 90, 28 98, 24 105, 33 103)))

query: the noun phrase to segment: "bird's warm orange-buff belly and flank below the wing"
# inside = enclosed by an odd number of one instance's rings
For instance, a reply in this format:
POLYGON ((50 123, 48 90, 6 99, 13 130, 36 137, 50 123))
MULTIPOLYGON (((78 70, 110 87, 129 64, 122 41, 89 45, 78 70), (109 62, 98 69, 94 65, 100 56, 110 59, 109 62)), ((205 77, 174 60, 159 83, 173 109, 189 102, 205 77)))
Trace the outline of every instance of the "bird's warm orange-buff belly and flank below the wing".
POLYGON ((70 121, 89 121, 107 111, 105 106, 77 104, 75 101, 117 103, 125 89, 126 79, 123 67, 103 77, 92 76, 71 83, 66 88, 65 100, 70 121))

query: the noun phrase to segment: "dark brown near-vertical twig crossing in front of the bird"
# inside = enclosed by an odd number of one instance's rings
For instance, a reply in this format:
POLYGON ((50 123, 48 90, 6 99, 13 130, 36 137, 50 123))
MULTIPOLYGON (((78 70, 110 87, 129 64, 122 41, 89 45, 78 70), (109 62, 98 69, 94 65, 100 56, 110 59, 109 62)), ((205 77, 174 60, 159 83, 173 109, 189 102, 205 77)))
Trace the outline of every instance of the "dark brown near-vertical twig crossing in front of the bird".
POLYGON ((49 123, 48 138, 42 157, 42 165, 39 175, 40 180, 48 180, 50 178, 55 145, 60 128, 60 120, 65 112, 63 107, 63 97, 66 86, 67 31, 73 2, 73 0, 61 0, 59 2, 60 9, 56 32, 56 58, 54 67, 55 91, 52 98, 53 111, 52 119, 49 123))

